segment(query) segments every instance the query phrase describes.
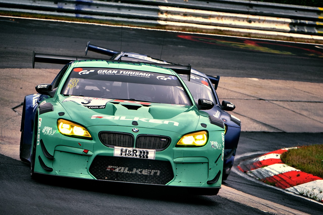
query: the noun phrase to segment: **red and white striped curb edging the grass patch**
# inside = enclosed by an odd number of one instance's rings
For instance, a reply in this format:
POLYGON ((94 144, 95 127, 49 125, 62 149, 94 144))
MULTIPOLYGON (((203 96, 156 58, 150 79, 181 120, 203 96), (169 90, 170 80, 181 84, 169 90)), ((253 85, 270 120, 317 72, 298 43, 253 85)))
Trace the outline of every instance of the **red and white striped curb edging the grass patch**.
POLYGON ((280 155, 288 149, 291 148, 244 160, 238 169, 267 184, 323 202, 323 179, 284 164, 280 155))

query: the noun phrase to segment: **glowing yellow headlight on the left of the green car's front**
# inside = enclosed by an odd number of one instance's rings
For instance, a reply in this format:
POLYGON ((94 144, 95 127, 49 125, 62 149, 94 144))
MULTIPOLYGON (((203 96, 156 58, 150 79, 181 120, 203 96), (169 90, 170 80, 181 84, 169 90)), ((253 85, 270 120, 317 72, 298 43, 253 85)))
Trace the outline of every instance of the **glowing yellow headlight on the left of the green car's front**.
POLYGON ((92 139, 88 129, 65 119, 57 120, 58 131, 68 137, 92 139))

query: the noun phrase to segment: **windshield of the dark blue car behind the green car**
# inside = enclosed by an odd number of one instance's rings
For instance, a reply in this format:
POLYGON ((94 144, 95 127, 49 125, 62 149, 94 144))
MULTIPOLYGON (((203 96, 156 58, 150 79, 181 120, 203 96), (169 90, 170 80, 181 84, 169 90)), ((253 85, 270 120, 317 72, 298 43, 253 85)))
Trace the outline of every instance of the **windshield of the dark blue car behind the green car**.
POLYGON ((183 81, 185 82, 186 86, 192 93, 192 96, 197 103, 199 98, 206 98, 208 100, 211 100, 216 104, 214 95, 212 93, 212 89, 210 87, 209 81, 198 75, 191 74, 191 80, 187 80, 187 75, 180 75, 183 81))

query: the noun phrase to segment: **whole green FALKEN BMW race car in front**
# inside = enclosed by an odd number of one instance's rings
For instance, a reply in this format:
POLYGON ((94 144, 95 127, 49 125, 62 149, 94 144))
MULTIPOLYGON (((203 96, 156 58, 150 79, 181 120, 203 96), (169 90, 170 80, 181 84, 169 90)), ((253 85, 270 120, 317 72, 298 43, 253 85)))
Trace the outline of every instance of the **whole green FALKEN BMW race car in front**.
POLYGON ((224 123, 195 103, 178 74, 190 66, 34 53, 66 64, 25 97, 20 158, 40 174, 178 186, 216 195, 224 123), (176 71, 176 72, 175 72, 176 71))

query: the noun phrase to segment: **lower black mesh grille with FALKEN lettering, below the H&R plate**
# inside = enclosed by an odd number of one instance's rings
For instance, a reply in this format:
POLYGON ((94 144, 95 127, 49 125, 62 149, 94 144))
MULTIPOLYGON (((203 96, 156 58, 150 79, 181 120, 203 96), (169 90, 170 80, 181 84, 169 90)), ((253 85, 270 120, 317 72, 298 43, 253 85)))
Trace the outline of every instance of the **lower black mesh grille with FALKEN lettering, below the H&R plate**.
POLYGON ((99 180, 165 185, 174 178, 169 161, 96 156, 89 172, 99 180))

